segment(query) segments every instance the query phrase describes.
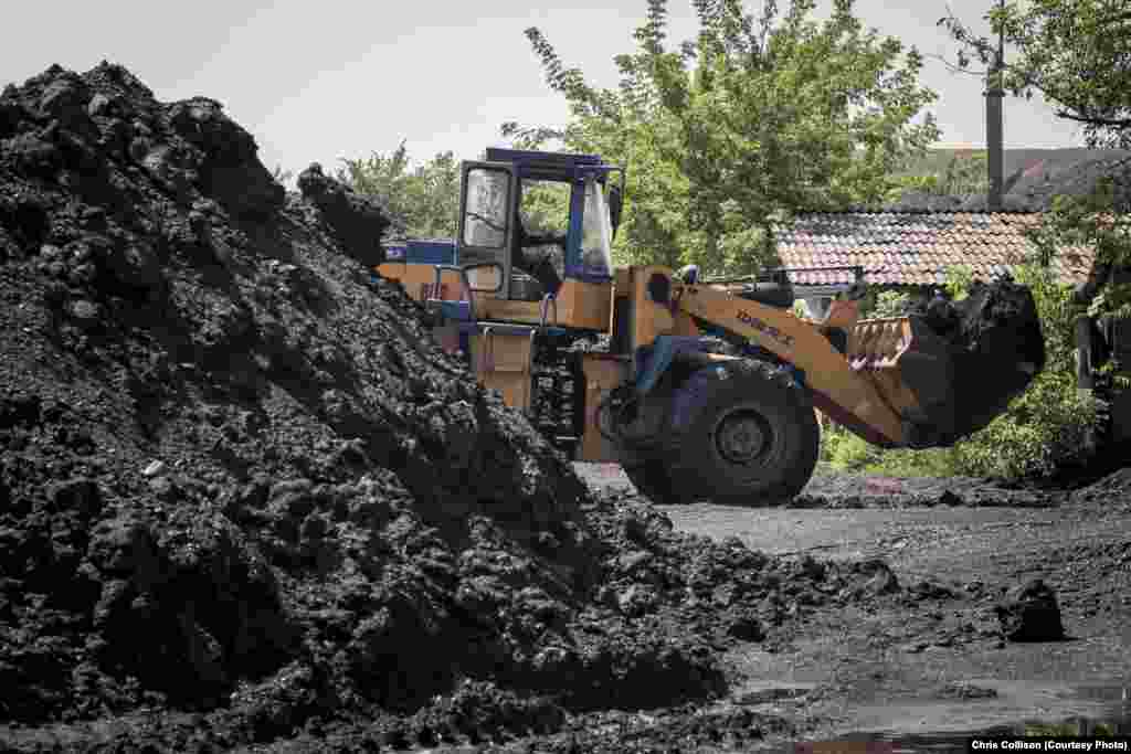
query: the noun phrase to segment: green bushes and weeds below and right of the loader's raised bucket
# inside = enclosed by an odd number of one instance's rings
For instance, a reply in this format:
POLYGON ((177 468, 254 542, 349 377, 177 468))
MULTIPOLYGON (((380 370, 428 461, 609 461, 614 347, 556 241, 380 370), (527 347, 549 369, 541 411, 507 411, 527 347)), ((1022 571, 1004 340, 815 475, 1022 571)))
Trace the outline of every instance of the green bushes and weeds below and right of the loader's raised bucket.
MULTIPOLYGON (((1078 309, 1072 304, 1071 288, 1039 265, 1018 267, 1015 274, 1033 292, 1047 362, 1003 415, 953 448, 923 451, 880 450, 837 428, 822 437, 826 460, 836 468, 873 474, 1004 478, 1050 475, 1083 460, 1095 406, 1076 390, 1073 327, 1078 309)), ((950 293, 956 298, 965 296, 969 271, 953 268, 948 277, 950 293)))

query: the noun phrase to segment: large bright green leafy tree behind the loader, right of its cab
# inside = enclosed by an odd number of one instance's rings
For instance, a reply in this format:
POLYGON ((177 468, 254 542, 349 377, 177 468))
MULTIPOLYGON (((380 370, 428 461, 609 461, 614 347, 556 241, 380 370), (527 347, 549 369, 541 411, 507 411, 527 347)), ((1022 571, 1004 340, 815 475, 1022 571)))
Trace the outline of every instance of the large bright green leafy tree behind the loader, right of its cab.
POLYGON ((621 260, 750 271, 772 261, 775 222, 881 200, 899 162, 938 137, 930 115, 915 122, 934 98, 917 83, 922 58, 864 31, 853 5, 835 0, 818 23, 813 0, 784 14, 767 0, 757 19, 741 0, 694 0, 698 38, 670 51, 667 2, 648 0, 636 52, 615 59, 616 89, 588 85, 529 28, 572 118, 503 135, 526 146, 558 137, 629 165, 621 260))

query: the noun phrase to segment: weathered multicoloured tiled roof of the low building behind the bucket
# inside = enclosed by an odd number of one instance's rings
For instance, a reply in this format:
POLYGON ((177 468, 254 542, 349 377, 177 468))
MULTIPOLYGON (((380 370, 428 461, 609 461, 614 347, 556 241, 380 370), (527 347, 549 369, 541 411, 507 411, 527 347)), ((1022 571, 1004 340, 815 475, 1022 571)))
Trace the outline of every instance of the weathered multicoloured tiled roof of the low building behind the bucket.
MULTIPOLYGON (((1036 253, 1024 231, 1037 213, 811 213, 777 228, 785 267, 862 266, 873 285, 936 285, 948 267, 964 265, 992 280, 1036 253)), ((1056 269, 1065 283, 1087 278, 1091 252, 1065 248, 1056 269)), ((851 271, 796 272, 796 285, 851 283, 851 271)))

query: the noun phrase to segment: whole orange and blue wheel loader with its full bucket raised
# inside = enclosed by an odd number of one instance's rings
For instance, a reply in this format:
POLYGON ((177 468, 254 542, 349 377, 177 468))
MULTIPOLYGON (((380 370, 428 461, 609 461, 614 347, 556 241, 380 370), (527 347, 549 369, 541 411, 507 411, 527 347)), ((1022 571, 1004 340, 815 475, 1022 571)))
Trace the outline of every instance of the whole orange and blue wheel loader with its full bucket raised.
POLYGON ((1035 314, 991 333, 992 353, 957 348, 927 317, 860 320, 858 268, 819 320, 793 311, 796 270, 614 268, 623 197, 624 170, 596 155, 487 149, 461 165, 457 237, 408 241, 377 274, 425 306, 485 388, 655 502, 795 495, 817 465, 817 411, 881 448, 952 444, 1044 365, 1035 314), (547 185, 564 227, 536 236, 524 196, 547 185))

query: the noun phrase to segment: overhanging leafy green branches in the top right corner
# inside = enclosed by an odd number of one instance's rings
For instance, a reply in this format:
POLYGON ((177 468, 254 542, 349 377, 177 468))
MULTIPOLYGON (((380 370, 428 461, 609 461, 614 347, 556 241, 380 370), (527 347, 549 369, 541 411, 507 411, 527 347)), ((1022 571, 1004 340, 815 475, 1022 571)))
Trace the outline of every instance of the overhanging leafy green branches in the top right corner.
MULTIPOLYGON (((1083 123, 1089 146, 1131 147, 1131 9, 1125 0, 1029 0, 993 8, 986 18, 1011 47, 1002 86, 1041 92, 1056 114, 1083 123)), ((941 19, 959 43, 958 66, 972 55, 995 66, 995 40, 953 15, 941 19)))

